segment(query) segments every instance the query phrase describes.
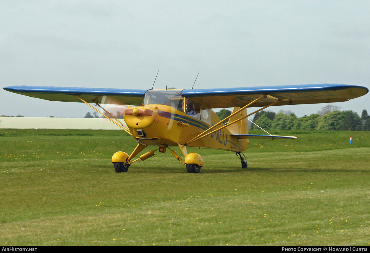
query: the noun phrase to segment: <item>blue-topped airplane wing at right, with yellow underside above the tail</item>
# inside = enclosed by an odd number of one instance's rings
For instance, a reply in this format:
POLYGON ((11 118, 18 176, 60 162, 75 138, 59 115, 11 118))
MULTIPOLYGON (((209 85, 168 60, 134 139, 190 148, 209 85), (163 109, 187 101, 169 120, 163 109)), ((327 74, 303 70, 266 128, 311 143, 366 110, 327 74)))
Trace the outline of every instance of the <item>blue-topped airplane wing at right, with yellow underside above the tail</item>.
POLYGON ((239 87, 223 89, 187 89, 182 95, 210 108, 243 107, 262 95, 265 98, 250 107, 343 102, 365 95, 366 87, 346 84, 307 84, 286 86, 239 87))

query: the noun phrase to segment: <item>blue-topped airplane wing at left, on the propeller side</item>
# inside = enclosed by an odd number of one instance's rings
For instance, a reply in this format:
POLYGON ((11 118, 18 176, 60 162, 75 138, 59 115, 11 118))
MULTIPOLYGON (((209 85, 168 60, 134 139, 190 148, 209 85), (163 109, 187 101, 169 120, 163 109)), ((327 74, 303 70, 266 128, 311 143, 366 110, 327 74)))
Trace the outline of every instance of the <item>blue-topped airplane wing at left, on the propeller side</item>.
POLYGON ((10 92, 33 98, 50 101, 82 102, 75 95, 80 96, 87 102, 98 102, 104 96, 117 101, 122 105, 141 105, 147 90, 135 89, 108 89, 108 88, 74 88, 74 87, 43 87, 43 86, 9 86, 3 88, 10 92))

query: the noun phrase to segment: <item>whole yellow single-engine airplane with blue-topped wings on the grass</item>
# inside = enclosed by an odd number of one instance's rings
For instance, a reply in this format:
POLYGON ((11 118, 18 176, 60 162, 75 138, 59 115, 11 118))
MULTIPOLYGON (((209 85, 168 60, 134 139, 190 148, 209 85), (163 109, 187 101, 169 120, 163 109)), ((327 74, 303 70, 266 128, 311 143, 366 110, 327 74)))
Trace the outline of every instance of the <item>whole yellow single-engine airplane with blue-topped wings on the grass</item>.
POLYGON ((242 168, 246 168, 247 162, 241 154, 248 146, 248 139, 296 138, 248 134, 248 117, 260 110, 269 106, 343 102, 369 92, 366 87, 345 84, 182 90, 41 86, 9 86, 4 89, 51 101, 84 102, 125 130, 138 141, 138 145, 131 154, 118 151, 113 155, 112 163, 116 172, 127 172, 128 167, 135 161, 144 161, 152 157, 157 150, 165 153, 168 148, 177 160, 186 165, 188 173, 199 173, 203 159, 199 154, 188 154, 186 147, 233 151, 240 157, 242 168), (90 103, 97 105, 105 113, 90 103), (118 105, 126 124, 122 124, 101 104, 118 105), (234 107, 233 112, 222 121, 212 110, 228 107, 234 107), (263 108, 248 114, 247 107, 263 108), (223 124, 225 120, 228 120, 228 123, 223 124), (134 157, 147 146, 158 148, 134 160, 134 157), (180 148, 184 160, 170 148, 173 146, 180 148))

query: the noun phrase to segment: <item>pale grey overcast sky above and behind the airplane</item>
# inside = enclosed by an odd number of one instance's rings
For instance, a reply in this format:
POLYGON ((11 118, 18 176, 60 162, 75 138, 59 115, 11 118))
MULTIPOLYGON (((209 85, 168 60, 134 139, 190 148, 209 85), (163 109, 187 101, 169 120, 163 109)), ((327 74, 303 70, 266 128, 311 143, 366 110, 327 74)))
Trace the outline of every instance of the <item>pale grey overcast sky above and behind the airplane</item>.
MULTIPOLYGON (((0 80, 154 88, 370 88, 370 1, 0 1, 0 80)), ((83 103, 0 90, 0 115, 83 117, 83 103)), ((370 113, 370 94, 335 103, 370 113)), ((327 104, 275 106, 301 117, 327 104)))

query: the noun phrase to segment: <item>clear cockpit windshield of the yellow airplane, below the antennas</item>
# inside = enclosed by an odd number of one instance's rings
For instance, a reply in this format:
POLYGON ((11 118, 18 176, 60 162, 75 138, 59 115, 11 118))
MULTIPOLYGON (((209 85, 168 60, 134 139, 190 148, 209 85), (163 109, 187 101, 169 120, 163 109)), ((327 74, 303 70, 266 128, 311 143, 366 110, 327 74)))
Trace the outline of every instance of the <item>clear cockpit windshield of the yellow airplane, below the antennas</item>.
POLYGON ((184 97, 181 90, 148 90, 145 92, 144 105, 167 105, 183 110, 184 97))

